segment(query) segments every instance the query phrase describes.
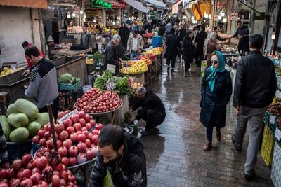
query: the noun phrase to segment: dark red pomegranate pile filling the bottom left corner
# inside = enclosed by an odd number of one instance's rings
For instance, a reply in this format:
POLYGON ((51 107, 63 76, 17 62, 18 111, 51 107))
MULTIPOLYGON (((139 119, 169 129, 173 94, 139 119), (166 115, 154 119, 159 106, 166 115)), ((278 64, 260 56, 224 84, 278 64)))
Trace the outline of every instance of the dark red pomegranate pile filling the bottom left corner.
POLYGON ((76 179, 70 170, 61 163, 53 162, 54 151, 46 151, 46 155, 41 158, 32 158, 26 154, 22 159, 13 161, 11 168, 0 169, 1 187, 21 187, 21 186, 67 186, 75 187, 76 179), (47 154, 48 153, 48 154, 47 154))

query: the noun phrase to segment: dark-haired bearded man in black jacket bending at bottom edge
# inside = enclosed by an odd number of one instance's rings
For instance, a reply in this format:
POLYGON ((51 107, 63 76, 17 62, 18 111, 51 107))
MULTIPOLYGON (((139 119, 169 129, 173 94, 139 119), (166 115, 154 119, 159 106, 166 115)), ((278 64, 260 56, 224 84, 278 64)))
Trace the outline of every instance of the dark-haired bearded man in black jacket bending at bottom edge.
POLYGON ((146 163, 141 141, 118 125, 106 125, 98 137, 98 156, 89 187, 103 186, 107 169, 117 187, 145 187, 146 163))

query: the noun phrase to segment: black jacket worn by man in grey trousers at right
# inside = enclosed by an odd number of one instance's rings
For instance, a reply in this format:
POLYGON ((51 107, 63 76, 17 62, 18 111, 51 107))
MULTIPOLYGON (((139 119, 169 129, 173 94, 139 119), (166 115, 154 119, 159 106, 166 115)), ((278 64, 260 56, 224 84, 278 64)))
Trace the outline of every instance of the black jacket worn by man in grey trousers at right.
POLYGON ((260 51, 251 51, 238 63, 233 106, 263 108, 272 101, 276 91, 275 67, 260 51))

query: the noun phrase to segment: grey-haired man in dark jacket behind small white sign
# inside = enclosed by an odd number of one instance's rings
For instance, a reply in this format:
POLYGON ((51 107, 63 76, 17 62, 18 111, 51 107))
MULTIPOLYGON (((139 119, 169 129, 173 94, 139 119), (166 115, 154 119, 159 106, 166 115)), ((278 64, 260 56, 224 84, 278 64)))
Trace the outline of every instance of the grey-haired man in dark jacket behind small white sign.
POLYGON ((126 48, 121 44, 121 37, 115 34, 112 41, 107 44, 105 49, 105 66, 104 69, 112 74, 119 74, 119 69, 122 68, 122 57, 126 52, 126 48))

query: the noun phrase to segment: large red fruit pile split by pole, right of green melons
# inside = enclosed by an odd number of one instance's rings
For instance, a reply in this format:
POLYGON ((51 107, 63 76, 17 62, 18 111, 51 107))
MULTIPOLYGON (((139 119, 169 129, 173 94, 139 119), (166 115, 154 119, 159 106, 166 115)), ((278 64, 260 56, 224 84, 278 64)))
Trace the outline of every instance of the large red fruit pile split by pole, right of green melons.
MULTIPOLYGON (((96 123, 96 120, 91 119, 84 111, 79 111, 63 123, 55 124, 58 154, 63 165, 73 166, 93 160, 98 153, 98 134, 102 128, 102 124, 96 123), (94 126, 95 130, 89 132, 94 126)), ((44 125, 32 141, 43 148, 53 149, 50 124, 44 125)), ((40 151, 37 151, 37 154, 42 155, 40 151)))

